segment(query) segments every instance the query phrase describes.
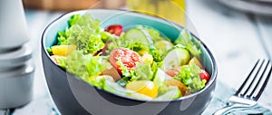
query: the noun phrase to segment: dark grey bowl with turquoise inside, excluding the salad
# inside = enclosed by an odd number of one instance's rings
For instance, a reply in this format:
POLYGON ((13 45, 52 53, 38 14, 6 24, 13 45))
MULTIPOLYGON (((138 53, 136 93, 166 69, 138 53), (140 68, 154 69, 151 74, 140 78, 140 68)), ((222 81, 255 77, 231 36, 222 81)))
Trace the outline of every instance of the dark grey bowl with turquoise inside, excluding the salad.
MULTIPOLYGON (((121 10, 92 9, 63 14, 49 24, 42 37, 42 57, 47 86, 58 110, 63 115, 87 115, 87 114, 164 114, 164 115, 193 115, 200 114, 209 105, 216 86, 217 65, 209 48, 201 42, 202 55, 200 61, 211 78, 206 87, 201 91, 181 97, 174 101, 141 101, 128 97, 102 91, 92 85, 65 72, 57 66, 46 52, 46 47, 56 43, 56 35, 59 30, 64 30, 67 20, 73 14, 92 14, 94 18, 102 21, 102 26, 110 24, 122 24, 130 26, 144 24, 158 29, 170 38, 176 38, 180 34, 179 29, 169 24, 168 21, 145 14, 121 10)), ((199 40, 198 38, 196 38, 199 40)))

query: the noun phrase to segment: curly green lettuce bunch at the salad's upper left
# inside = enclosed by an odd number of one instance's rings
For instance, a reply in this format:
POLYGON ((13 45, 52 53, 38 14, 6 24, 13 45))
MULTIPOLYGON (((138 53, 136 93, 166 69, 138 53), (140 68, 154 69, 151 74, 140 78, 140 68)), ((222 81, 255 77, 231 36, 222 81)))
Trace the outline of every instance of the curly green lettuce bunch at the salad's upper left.
POLYGON ((58 32, 58 45, 74 44, 84 54, 99 52, 109 38, 115 37, 104 32, 100 20, 92 18, 91 14, 74 14, 68 23, 64 32, 58 32))

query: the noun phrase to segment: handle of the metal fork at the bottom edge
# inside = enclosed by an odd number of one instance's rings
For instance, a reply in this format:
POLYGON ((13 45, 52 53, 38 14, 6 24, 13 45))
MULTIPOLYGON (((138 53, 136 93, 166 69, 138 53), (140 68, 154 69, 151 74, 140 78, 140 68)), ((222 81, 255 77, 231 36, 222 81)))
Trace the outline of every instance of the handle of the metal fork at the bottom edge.
POLYGON ((246 105, 246 104, 234 103, 234 104, 228 105, 222 109, 215 111, 213 113, 213 115, 222 115, 223 113, 225 113, 228 110, 237 109, 237 108, 248 108, 248 107, 251 107, 251 106, 246 105))

